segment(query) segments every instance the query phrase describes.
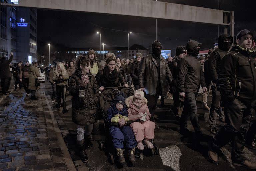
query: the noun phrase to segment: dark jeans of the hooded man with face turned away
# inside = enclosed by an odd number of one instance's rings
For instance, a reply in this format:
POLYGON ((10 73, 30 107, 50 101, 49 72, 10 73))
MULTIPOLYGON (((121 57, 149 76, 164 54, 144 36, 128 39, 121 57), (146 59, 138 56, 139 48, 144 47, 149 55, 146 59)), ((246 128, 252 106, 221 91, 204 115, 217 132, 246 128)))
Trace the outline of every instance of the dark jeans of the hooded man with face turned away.
POLYGON ((196 96, 197 93, 185 93, 186 97, 184 98, 184 108, 180 118, 180 127, 181 129, 187 128, 187 119, 190 117, 191 123, 194 127, 194 130, 200 131, 200 125, 197 116, 197 105, 196 105, 196 96))

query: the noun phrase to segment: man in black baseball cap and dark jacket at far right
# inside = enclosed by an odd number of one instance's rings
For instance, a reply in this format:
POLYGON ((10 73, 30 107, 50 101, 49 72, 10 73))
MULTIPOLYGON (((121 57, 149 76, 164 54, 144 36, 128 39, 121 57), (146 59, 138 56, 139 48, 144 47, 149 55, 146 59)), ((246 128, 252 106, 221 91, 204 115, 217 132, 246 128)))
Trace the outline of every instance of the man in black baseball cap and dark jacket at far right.
POLYGON ((256 99, 256 61, 250 57, 252 38, 255 31, 241 30, 236 36, 236 44, 221 60, 218 82, 221 101, 224 104, 226 125, 220 129, 209 144, 208 155, 213 162, 218 161, 217 152, 231 141, 232 164, 256 169, 256 164, 244 156, 245 134, 256 99))

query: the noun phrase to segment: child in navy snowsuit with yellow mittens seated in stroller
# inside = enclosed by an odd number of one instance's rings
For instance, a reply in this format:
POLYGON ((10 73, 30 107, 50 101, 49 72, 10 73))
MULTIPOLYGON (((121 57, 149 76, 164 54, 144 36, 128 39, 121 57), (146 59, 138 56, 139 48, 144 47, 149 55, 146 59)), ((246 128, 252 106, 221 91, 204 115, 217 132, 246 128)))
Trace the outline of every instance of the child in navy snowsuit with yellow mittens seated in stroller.
POLYGON ((135 161, 134 151, 137 142, 134 139, 132 129, 125 125, 129 119, 125 104, 125 95, 123 92, 117 93, 106 113, 107 121, 110 123, 116 123, 110 125, 110 134, 112 136, 113 146, 116 149, 117 162, 125 162, 123 155, 124 142, 129 151, 129 160, 135 161))

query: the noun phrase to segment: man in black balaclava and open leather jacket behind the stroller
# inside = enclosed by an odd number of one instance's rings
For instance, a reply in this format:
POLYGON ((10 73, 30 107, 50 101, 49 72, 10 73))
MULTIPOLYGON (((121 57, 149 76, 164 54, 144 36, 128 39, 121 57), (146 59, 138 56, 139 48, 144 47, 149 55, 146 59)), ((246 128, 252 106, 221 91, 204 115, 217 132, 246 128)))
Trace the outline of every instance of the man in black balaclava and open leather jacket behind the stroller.
MULTIPOLYGON (((167 62, 161 55, 161 50, 161 43, 157 40, 154 41, 152 53, 142 58, 138 72, 139 88, 146 92, 151 121, 154 121, 155 107, 160 92, 166 96, 166 80, 169 83, 173 81, 167 62)), ((159 129, 159 126, 156 124, 155 128, 159 129)))

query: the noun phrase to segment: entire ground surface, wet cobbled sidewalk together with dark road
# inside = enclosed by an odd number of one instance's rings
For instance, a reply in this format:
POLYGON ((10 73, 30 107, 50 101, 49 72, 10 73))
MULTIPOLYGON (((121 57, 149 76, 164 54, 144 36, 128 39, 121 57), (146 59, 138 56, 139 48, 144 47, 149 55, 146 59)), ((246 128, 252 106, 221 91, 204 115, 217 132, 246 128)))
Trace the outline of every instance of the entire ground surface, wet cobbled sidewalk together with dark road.
MULTIPOLYGON (((37 96, 39 100, 30 101, 21 90, 12 92, 0 103, 0 170, 246 170, 231 164, 229 144, 221 149, 222 154, 217 164, 209 161, 207 143, 212 138, 207 122, 209 111, 200 109, 201 96, 197 99, 200 125, 204 133, 200 141, 194 136, 190 122, 188 129, 192 131, 191 136, 184 137, 179 133, 179 125, 173 114, 168 109, 156 109, 155 119, 161 129, 155 131, 154 141, 159 154, 150 155, 146 151, 135 162, 123 165, 111 165, 108 153, 99 148, 99 141, 105 141, 103 120, 94 124, 93 146, 87 150, 89 162, 82 163, 75 146, 76 125, 71 118, 71 96, 67 94, 69 111, 65 114, 57 112, 51 102, 49 82, 41 83, 37 96), (74 167, 70 167, 70 162, 74 167)), ((172 103, 172 100, 165 99, 167 108, 171 108, 172 103)), ((224 125, 220 121, 219 124, 224 125)), ((250 160, 256 160, 255 150, 245 148, 244 151, 250 160)))

